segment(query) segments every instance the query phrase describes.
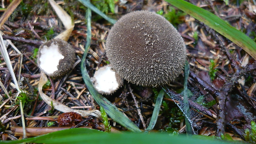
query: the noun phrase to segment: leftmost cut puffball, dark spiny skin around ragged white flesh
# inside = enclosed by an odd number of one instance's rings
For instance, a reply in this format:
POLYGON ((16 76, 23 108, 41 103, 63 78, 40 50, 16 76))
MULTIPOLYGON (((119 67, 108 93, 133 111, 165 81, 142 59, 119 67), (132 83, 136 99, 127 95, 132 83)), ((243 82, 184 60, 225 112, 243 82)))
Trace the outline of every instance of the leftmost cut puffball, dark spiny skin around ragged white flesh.
POLYGON ((45 42, 38 50, 38 66, 51 77, 64 76, 71 70, 75 59, 73 47, 59 38, 45 42))

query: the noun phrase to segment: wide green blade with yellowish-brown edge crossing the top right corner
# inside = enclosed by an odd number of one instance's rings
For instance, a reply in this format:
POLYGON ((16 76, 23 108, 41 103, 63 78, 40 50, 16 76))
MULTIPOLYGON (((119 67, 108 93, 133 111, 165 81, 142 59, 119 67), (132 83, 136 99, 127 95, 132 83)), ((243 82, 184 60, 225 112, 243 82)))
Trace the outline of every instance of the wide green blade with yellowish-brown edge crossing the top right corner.
POLYGON ((210 28, 214 29, 221 35, 230 39, 232 42, 242 47, 248 54, 256 59, 256 43, 251 40, 247 35, 237 30, 236 28, 230 26, 225 21, 217 17, 216 15, 208 12, 200 7, 192 5, 184 0, 166 0, 171 5, 181 9, 195 19, 203 22, 210 28))

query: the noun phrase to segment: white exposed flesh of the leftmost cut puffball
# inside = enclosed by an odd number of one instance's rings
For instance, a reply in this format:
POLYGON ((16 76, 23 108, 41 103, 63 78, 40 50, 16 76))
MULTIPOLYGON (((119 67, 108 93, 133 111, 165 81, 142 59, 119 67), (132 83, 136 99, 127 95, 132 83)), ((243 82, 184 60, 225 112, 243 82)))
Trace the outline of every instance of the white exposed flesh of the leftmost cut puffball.
POLYGON ((48 74, 57 71, 59 60, 64 59, 64 56, 59 52, 58 45, 56 43, 52 43, 50 47, 45 45, 40 52, 40 67, 48 74))

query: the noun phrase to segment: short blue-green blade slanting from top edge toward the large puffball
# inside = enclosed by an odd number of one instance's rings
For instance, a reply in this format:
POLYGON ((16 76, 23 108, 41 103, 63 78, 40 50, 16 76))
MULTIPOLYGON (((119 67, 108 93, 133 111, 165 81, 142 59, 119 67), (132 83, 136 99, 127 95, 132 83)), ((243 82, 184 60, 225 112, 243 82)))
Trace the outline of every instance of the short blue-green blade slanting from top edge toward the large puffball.
POLYGON ((104 19, 106 19, 107 21, 109 21, 111 24, 115 24, 116 20, 109 18, 106 14, 104 14, 103 12, 101 12, 99 9, 97 9, 97 7, 95 7, 94 5, 92 5, 90 3, 90 1, 88 0, 78 0, 79 2, 81 2, 83 5, 85 5, 85 7, 88 7, 90 9, 92 9, 93 12, 96 12, 97 14, 99 14, 101 17, 103 17, 104 19))

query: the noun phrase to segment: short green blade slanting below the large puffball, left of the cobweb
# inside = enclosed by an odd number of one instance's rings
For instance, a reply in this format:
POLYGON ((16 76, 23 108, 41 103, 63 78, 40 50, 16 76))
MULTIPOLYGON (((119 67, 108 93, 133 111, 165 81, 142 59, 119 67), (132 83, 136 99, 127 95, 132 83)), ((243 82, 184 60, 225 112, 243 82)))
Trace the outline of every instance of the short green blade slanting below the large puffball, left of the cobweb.
POLYGON ((153 111, 149 126, 147 127, 146 130, 153 130, 154 126, 156 125, 156 121, 157 121, 157 118, 158 118, 158 114, 159 114, 159 111, 160 111, 160 107, 161 107, 161 104, 162 104, 163 97, 164 97, 164 89, 162 89, 159 92, 158 96, 157 96, 154 111, 153 111))

